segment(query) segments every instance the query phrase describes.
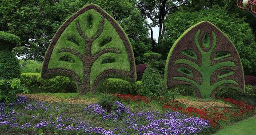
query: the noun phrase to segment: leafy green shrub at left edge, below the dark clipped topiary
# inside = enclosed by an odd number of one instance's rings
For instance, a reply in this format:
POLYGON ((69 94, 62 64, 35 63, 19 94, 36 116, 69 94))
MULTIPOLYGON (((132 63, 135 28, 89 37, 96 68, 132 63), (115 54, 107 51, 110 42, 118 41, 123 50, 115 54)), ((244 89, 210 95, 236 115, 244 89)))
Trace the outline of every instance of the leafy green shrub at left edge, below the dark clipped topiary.
POLYGON ((20 79, 0 79, 0 101, 14 101, 16 99, 15 94, 20 92, 29 92, 28 89, 20 83, 20 79))

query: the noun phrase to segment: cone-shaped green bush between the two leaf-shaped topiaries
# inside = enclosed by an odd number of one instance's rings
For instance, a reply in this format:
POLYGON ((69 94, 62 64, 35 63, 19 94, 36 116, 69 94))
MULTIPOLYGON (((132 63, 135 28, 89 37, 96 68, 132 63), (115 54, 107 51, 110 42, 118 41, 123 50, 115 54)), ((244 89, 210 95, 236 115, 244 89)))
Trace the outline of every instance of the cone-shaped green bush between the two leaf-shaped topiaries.
POLYGON ((138 94, 141 96, 156 97, 164 93, 163 79, 158 70, 148 66, 142 76, 141 89, 138 94))

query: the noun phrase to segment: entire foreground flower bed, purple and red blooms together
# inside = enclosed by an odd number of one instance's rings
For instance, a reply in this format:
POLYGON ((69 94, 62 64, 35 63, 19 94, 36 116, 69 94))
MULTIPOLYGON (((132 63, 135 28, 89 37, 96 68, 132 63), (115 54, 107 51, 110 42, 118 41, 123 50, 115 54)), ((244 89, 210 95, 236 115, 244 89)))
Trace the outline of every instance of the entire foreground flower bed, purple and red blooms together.
POLYGON ((0 134, 209 135, 255 114, 255 107, 233 99, 223 99, 231 107, 196 108, 139 95, 112 96, 116 99, 110 111, 97 103, 48 103, 18 96, 14 103, 0 103, 0 134))

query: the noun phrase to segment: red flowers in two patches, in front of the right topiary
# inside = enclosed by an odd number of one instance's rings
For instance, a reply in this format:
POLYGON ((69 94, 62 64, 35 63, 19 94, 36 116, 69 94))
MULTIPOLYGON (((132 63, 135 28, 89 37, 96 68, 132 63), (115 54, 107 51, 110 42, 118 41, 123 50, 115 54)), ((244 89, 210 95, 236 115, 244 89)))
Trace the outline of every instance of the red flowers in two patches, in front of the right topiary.
MULTIPOLYGON (((142 97, 140 95, 121 95, 114 94, 114 96, 130 101, 144 101, 149 103, 148 97, 142 97)), ((236 101, 234 99, 225 98, 223 99, 227 103, 231 103, 233 107, 185 107, 185 104, 181 101, 172 101, 165 103, 163 109, 171 109, 172 111, 178 111, 189 117, 198 117, 201 119, 208 120, 211 126, 218 130, 226 126, 229 123, 237 122, 246 117, 255 115, 255 107, 246 104, 244 101, 236 101)))

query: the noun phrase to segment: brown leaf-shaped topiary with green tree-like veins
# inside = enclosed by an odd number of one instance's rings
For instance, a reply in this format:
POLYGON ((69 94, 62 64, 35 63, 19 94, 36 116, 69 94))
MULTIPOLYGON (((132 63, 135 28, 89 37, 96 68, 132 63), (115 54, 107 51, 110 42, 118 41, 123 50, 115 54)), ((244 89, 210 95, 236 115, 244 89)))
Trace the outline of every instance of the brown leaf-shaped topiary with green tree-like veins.
POLYGON ((222 85, 244 89, 243 67, 235 46, 208 21, 192 26, 176 40, 168 54, 164 80, 168 88, 194 86, 199 98, 215 97, 222 85))

